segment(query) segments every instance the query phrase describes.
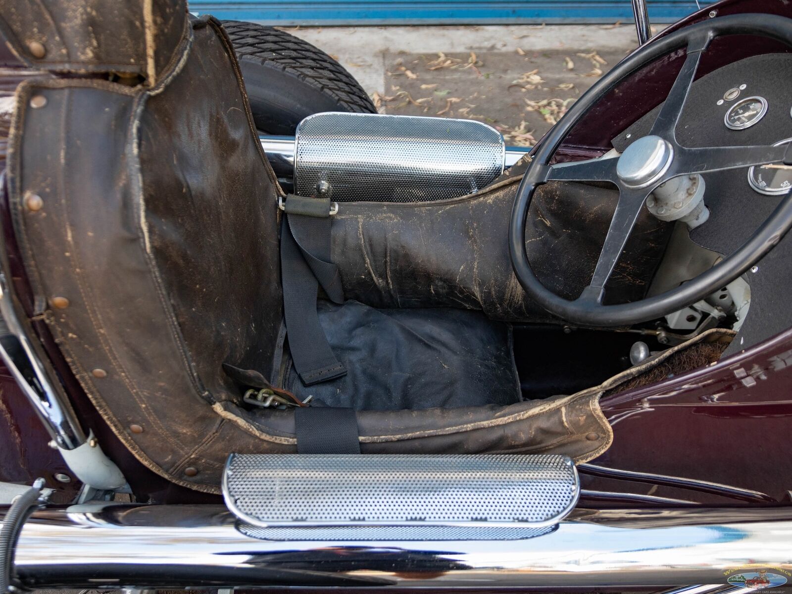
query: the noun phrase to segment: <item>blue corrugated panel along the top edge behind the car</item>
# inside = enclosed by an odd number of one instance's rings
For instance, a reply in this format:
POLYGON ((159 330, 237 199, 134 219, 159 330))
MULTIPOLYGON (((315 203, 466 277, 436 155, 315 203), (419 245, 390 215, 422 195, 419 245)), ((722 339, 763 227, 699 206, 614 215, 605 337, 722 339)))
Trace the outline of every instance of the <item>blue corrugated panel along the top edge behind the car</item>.
MULTIPOLYGON (((701 6, 708 3, 699 2, 701 6)), ((632 20, 629 0, 192 0, 189 6, 193 13, 211 13, 223 19, 261 21, 269 25, 515 25, 632 20)), ((653 22, 668 23, 696 9, 695 0, 650 0, 649 18, 653 22)))

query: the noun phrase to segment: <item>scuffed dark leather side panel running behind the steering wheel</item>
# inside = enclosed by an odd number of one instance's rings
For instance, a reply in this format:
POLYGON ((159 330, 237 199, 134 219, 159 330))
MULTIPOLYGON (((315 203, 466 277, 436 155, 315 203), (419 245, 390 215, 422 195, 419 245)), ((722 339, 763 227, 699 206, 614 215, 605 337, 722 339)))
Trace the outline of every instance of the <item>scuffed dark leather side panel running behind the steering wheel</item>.
MULTIPOLYGON (((508 321, 553 321, 512 272, 508 223, 520 177, 420 204, 347 203, 333 221, 345 294, 375 307, 466 307, 508 321)), ((535 192, 526 246, 551 291, 576 299, 591 280, 619 192, 550 182, 535 192)), ((606 303, 642 299, 672 225, 643 209, 606 286, 606 303)))

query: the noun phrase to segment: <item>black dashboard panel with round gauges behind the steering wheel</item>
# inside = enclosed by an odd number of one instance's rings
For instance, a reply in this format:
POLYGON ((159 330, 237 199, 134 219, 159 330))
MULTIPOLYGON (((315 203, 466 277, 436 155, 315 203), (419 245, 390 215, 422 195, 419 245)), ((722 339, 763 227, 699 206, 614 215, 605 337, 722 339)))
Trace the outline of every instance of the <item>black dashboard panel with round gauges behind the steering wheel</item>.
MULTIPOLYGON (((687 147, 729 147, 772 144, 792 138, 792 55, 756 55, 722 67, 699 78, 691 87, 676 129, 676 138, 687 147), (729 89, 744 85, 731 101, 724 98, 729 89), (724 124, 727 110, 744 97, 760 96, 768 109, 751 128, 730 130, 724 124)), ((613 140, 624 150, 635 139, 646 135, 659 107, 649 112, 613 140)), ((691 231, 691 239, 707 249, 730 254, 741 246, 779 204, 781 196, 765 196, 748 184, 748 168, 705 174, 704 202, 710 220, 691 231)), ((792 234, 787 234, 748 272, 751 286, 748 317, 726 355, 756 345, 792 326, 792 234)))

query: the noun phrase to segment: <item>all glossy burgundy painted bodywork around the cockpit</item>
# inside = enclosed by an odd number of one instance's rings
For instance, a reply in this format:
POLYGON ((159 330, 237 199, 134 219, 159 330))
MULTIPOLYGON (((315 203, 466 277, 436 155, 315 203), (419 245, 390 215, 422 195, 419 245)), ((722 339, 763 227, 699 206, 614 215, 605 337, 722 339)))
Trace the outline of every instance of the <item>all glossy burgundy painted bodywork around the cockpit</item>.
MULTIPOLYGON (((762 12, 792 16, 790 2, 724 0, 694 13, 667 31, 708 18, 710 10, 721 15, 762 12)), ((734 36, 713 45, 699 72, 704 74, 733 59, 781 49, 775 44, 734 36)), ((607 148, 612 137, 662 100, 676 77, 682 55, 680 51, 658 61, 615 89, 569 136, 566 152, 580 158, 607 148), (629 99, 625 101, 623 97, 629 99)), ((5 196, 0 204, 0 219, 13 268, 13 285, 23 306, 32 314, 32 293, 10 233, 5 196)), ((34 329, 63 377, 83 424, 96 432, 105 451, 119 464, 135 489, 143 497, 153 493, 154 501, 201 501, 203 495, 168 486, 164 479, 134 459, 89 403, 44 323, 36 323, 34 329)), ((604 412, 613 425, 615 439, 611 448, 593 463, 725 482, 762 490, 781 499, 786 489, 792 489, 790 371, 792 330, 713 367, 605 398, 604 412)), ((32 410, 26 408, 24 396, 4 369, 0 371, 0 389, 0 481, 31 482, 40 474, 48 474, 47 470, 62 470, 63 461, 46 446, 47 433, 32 410)), ((588 489, 723 501, 706 494, 612 479, 584 476, 583 482, 588 489)))

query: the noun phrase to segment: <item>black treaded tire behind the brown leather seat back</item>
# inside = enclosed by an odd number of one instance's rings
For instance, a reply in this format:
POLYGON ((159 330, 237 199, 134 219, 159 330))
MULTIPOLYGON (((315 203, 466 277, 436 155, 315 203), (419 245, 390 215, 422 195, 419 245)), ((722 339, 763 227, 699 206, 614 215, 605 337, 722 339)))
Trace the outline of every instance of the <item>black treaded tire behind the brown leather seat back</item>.
POLYGON ((294 135, 303 118, 319 112, 376 113, 352 74, 307 41, 244 21, 223 21, 223 28, 262 134, 294 135))

